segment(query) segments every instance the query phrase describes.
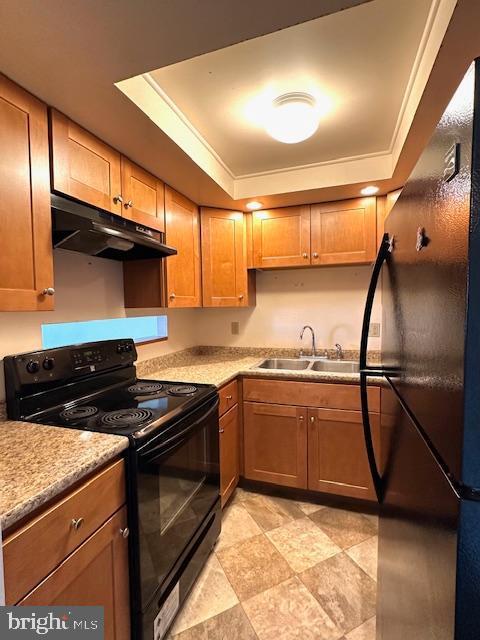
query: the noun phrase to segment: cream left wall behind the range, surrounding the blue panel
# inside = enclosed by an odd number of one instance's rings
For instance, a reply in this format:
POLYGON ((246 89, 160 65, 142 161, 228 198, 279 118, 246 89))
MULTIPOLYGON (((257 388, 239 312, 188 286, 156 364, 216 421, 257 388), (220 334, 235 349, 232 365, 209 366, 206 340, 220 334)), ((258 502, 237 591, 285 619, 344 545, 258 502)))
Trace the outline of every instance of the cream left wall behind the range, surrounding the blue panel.
MULTIPOLYGON (((41 349, 43 323, 165 313, 164 309, 135 309, 126 314, 120 262, 57 249, 54 263, 55 311, 0 313, 0 360, 12 353, 41 349)), ((195 313, 198 311, 169 310, 169 340, 139 347, 139 360, 197 344, 195 322, 192 321, 195 313)), ((0 401, 4 397, 0 363, 0 401)))

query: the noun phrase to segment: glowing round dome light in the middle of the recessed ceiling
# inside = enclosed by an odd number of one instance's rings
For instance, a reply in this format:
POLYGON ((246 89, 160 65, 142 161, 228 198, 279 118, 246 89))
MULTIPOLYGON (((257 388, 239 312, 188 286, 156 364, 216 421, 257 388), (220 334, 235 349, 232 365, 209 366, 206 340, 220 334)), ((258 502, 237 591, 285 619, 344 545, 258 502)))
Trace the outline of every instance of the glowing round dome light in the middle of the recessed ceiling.
POLYGON ((265 129, 279 142, 302 142, 313 136, 318 129, 320 111, 309 93, 284 93, 273 101, 265 129))

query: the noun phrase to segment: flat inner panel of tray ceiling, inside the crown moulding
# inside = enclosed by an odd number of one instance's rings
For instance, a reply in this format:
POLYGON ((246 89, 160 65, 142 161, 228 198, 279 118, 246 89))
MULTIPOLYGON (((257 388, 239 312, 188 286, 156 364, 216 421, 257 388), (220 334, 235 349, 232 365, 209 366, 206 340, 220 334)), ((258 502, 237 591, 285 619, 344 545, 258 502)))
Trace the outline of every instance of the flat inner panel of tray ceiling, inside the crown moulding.
POLYGON ((390 149, 432 0, 375 0, 150 72, 237 176, 390 149), (290 91, 327 100, 317 133, 282 144, 262 102, 290 91))

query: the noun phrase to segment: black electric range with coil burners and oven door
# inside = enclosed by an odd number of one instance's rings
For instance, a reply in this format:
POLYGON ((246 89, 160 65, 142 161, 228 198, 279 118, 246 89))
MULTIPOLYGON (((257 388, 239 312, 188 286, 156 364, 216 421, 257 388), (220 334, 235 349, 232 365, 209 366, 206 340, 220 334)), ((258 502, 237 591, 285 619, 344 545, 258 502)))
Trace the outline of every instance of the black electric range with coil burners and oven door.
POLYGON ((138 379, 136 357, 130 339, 7 356, 7 411, 129 438, 132 636, 160 640, 220 532, 218 393, 138 379))

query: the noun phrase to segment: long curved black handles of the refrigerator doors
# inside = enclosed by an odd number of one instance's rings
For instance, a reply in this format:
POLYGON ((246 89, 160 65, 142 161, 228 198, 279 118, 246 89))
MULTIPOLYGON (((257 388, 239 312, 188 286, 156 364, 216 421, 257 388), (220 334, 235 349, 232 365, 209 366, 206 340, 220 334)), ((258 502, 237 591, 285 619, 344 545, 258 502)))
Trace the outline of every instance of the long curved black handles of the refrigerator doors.
POLYGON ((367 292, 367 300, 365 303, 365 311, 363 314, 362 337, 360 340, 360 399, 362 407, 363 434, 365 437, 365 448, 367 451, 368 465, 373 480, 373 486, 377 495, 377 500, 382 502, 383 489, 382 478, 378 471, 377 462, 375 460, 375 449, 373 447, 372 428, 370 425, 370 416, 368 411, 368 376, 382 376, 381 367, 371 367, 367 365, 367 347, 368 347, 368 331, 370 328, 370 318, 372 315, 373 301, 375 291, 377 290, 378 278, 382 270, 383 263, 388 255, 393 251, 393 237, 390 238, 385 233, 382 243, 378 251, 377 259, 373 266, 372 277, 367 292))

